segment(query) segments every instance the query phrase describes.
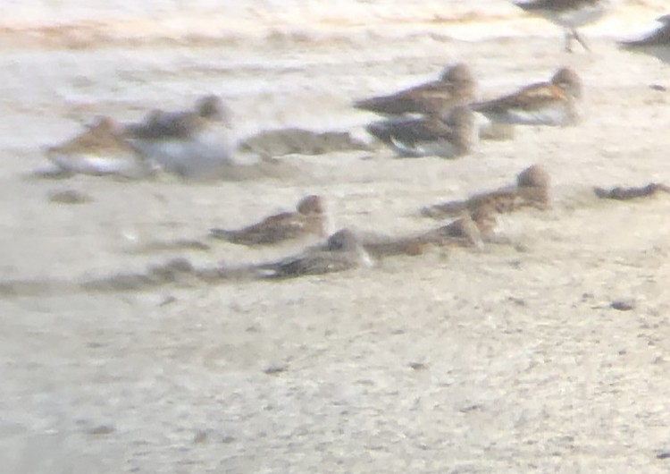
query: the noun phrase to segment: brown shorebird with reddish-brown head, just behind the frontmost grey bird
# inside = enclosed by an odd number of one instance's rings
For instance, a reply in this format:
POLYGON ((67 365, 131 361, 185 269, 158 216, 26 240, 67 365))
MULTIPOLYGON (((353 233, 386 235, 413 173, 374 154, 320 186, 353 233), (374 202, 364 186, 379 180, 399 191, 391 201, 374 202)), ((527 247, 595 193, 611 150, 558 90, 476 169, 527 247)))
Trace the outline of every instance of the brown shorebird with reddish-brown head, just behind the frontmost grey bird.
POLYGON ((309 234, 325 237, 328 217, 320 196, 307 196, 297 203, 295 212, 282 212, 265 217, 261 222, 242 229, 212 229, 216 239, 242 245, 267 245, 297 239, 309 234))

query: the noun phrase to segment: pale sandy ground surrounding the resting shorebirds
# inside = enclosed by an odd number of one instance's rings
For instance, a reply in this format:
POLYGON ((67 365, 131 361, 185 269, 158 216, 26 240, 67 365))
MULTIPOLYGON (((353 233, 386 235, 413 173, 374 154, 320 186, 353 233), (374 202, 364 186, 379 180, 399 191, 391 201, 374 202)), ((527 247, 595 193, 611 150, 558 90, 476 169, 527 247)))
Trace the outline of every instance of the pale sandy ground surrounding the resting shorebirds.
POLYGON ((560 30, 494 1, 348 1, 325 13, 315 2, 165 3, 152 18, 155 2, 118 21, 105 14, 119 2, 3 4, 4 280, 81 280, 175 255, 200 265, 284 255, 295 248, 138 249, 203 239, 306 193, 327 196, 339 226, 390 233, 426 228, 419 207, 507 184, 533 163, 555 183, 550 212, 505 220, 512 246, 281 283, 2 297, 4 472, 668 470, 657 454, 670 450, 670 199, 590 193, 670 182, 669 96, 649 88, 670 87, 670 66, 612 42, 650 27, 664 2, 629 2, 584 30, 592 55, 566 55, 560 30), (284 180, 29 178, 46 166, 40 147, 95 114, 136 119, 205 92, 227 100, 243 134, 361 134, 373 117, 352 98, 453 61, 471 64, 486 97, 571 65, 586 86, 584 123, 518 130, 457 161, 381 149, 286 157, 299 173, 284 180), (63 189, 94 200, 49 202, 63 189), (264 373, 272 367, 286 370, 264 373))

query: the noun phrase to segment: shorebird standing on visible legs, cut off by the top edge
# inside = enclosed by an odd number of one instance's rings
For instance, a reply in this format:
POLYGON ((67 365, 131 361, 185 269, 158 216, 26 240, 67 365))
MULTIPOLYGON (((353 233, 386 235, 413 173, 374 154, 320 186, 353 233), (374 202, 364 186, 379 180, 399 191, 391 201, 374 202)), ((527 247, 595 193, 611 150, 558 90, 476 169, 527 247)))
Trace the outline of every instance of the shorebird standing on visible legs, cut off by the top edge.
POLYGON ((572 52, 573 38, 590 51, 577 28, 599 20, 611 8, 611 0, 532 0, 516 6, 563 27, 565 51, 572 52))

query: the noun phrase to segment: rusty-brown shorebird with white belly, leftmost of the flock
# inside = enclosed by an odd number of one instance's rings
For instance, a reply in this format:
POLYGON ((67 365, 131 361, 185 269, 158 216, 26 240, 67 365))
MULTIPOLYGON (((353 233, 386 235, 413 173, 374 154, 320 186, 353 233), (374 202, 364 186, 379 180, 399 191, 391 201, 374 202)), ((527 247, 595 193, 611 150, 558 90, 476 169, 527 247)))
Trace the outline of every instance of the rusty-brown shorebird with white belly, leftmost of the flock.
POLYGON ((102 117, 71 140, 46 148, 46 157, 65 173, 117 174, 137 178, 149 166, 125 140, 122 127, 102 117))

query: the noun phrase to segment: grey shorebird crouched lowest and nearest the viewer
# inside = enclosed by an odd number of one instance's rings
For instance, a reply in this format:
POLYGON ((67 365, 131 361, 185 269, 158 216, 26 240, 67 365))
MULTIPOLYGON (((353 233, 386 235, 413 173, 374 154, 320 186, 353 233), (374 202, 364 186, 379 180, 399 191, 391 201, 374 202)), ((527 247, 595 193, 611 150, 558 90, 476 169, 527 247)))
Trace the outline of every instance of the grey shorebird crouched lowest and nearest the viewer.
POLYGON ((355 233, 342 229, 319 246, 282 258, 277 262, 255 267, 264 278, 290 278, 301 275, 322 275, 355 267, 369 267, 372 259, 355 233))

